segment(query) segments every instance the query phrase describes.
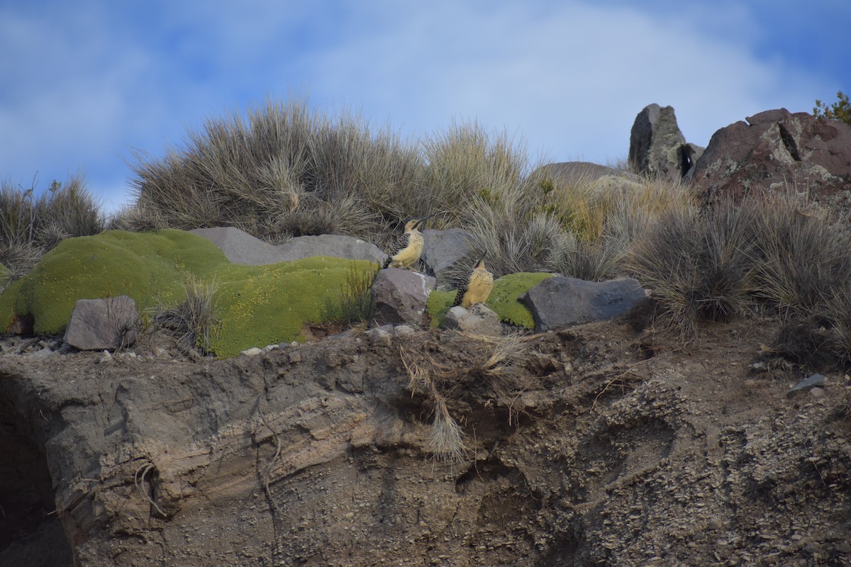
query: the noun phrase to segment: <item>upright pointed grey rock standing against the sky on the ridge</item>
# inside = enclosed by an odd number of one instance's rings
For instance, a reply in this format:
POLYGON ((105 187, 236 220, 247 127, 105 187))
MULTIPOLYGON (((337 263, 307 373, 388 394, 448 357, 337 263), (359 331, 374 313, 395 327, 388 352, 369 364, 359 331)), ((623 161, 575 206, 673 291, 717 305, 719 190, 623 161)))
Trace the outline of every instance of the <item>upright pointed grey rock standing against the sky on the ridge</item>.
POLYGON ((703 148, 687 144, 671 106, 647 105, 630 132, 630 170, 654 179, 682 179, 703 148))

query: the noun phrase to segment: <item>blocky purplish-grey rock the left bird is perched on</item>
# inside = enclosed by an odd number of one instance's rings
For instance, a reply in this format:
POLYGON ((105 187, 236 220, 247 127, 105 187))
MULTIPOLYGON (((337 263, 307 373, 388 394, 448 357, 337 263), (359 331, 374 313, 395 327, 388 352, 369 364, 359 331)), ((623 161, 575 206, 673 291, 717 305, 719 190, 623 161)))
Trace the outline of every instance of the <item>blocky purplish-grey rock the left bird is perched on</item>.
POLYGON ((375 324, 422 326, 426 301, 434 286, 431 275, 408 269, 380 269, 372 286, 375 324))

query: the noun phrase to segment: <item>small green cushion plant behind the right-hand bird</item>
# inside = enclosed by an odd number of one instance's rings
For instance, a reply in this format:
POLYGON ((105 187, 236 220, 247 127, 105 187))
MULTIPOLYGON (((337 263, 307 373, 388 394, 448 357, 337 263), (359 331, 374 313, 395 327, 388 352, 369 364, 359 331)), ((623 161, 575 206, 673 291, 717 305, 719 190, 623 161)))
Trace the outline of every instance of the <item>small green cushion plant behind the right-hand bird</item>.
MULTIPOLYGON (((490 293, 486 304, 488 308, 494 310, 496 315, 500 315, 500 320, 505 323, 534 329, 532 313, 523 303, 520 303, 520 297, 549 277, 552 275, 537 272, 503 275, 494 281, 494 291, 490 293)), ((446 319, 448 310, 452 308, 455 293, 454 291, 431 292, 427 309, 431 316, 432 327, 443 326, 443 320, 446 319)))

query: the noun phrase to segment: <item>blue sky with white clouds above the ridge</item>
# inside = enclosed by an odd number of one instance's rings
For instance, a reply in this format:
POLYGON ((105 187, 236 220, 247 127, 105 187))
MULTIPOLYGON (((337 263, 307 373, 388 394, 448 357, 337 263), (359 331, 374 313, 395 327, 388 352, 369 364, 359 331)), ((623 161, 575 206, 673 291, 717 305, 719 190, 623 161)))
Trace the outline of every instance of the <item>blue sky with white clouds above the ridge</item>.
POLYGON ((533 159, 611 163, 645 105, 686 139, 851 92, 848 0, 0 0, 0 178, 83 173, 131 201, 134 150, 306 95, 413 138, 477 122, 533 159))

